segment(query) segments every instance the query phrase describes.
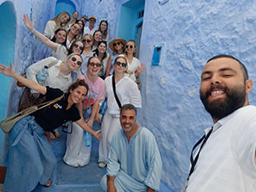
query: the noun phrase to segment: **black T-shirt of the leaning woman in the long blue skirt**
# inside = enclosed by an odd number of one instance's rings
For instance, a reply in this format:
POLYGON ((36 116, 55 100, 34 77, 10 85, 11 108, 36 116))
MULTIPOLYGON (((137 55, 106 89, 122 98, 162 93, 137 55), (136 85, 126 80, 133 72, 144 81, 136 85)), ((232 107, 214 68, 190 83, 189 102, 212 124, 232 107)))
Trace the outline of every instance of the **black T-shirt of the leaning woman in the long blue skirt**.
MULTIPOLYGON (((63 95, 62 90, 47 87, 47 92, 44 95, 46 96, 45 102, 54 100, 61 95, 63 95)), ((72 105, 71 108, 66 110, 67 97, 67 94, 65 94, 60 101, 32 114, 32 116, 35 116, 35 121, 43 128, 43 130, 52 131, 67 121, 80 120, 80 113, 75 105, 72 105)))

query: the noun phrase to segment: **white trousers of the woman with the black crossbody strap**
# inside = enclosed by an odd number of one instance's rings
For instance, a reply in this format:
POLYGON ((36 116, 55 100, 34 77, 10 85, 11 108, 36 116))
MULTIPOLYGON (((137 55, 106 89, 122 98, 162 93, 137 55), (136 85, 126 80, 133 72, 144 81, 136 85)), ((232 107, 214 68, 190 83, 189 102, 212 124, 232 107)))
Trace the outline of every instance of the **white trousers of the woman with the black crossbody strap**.
POLYGON ((99 141, 99 162, 105 162, 107 164, 108 152, 110 149, 112 136, 122 127, 119 121, 119 117, 114 117, 107 111, 104 115, 101 127, 102 139, 99 141))

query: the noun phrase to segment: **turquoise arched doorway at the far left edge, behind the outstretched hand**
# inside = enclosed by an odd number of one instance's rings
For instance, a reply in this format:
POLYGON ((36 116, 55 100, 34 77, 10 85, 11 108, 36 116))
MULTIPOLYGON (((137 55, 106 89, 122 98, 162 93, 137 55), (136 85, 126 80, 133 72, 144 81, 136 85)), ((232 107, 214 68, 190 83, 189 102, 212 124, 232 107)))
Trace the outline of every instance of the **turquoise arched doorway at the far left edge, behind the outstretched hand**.
MULTIPOLYGON (((16 40, 16 14, 12 3, 4 2, 0 5, 0 63, 10 65, 14 61, 15 40, 16 40), (8 19, 7 19, 8 18, 8 19)), ((0 74, 0 120, 6 116, 9 100, 10 77, 0 74)), ((4 134, 0 132, 0 153, 3 148, 4 134)))

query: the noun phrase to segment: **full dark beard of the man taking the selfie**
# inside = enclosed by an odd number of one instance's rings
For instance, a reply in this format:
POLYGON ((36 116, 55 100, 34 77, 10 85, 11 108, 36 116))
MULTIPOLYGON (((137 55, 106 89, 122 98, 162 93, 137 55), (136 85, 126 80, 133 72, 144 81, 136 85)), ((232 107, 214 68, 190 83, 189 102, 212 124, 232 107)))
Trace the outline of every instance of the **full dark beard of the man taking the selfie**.
POLYGON ((223 87, 221 85, 212 86, 206 93, 200 90, 200 98, 204 105, 204 108, 215 120, 221 120, 221 118, 232 114, 236 109, 243 107, 246 101, 246 86, 234 86, 232 89, 223 87), (208 96, 211 95, 212 90, 221 89, 227 97, 226 99, 220 99, 213 102, 208 102, 208 96))

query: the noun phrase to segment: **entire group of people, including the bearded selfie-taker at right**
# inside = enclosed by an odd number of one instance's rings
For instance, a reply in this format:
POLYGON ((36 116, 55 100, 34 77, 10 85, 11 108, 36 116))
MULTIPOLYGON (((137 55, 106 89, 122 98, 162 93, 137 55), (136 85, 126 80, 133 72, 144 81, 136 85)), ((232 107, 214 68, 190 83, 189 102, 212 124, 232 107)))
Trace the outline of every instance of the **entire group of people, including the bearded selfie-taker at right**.
MULTIPOLYGON (((39 93, 46 102, 57 98, 12 128, 4 188, 31 191, 38 183, 51 184, 56 159, 48 143, 51 134, 46 133, 54 133, 69 121, 72 133, 67 134, 66 164, 78 167, 89 163, 91 146, 85 146, 84 135, 91 133, 100 140, 99 167, 107 165, 103 189, 157 191, 162 171, 157 142, 147 128, 136 124, 136 108, 141 108, 136 81, 144 70, 134 57, 136 43, 121 38, 107 42, 106 21, 96 29, 93 15, 78 17, 77 11, 71 17, 63 11, 41 34, 24 15, 25 26, 54 50, 53 55, 29 66, 27 78, 18 75, 12 63, 10 67, 0 65, 0 73, 25 84, 31 94, 39 93), (107 53, 107 45, 112 54, 107 53), (48 79, 38 84, 36 76, 45 66, 48 79), (104 102, 107 109, 101 121, 99 108, 104 102), (94 131, 97 122, 101 130, 94 131)), ((247 97, 252 88, 253 81, 240 60, 230 55, 208 60, 202 70, 200 96, 214 126, 193 147, 183 191, 256 190, 256 109, 249 106, 247 97)))

